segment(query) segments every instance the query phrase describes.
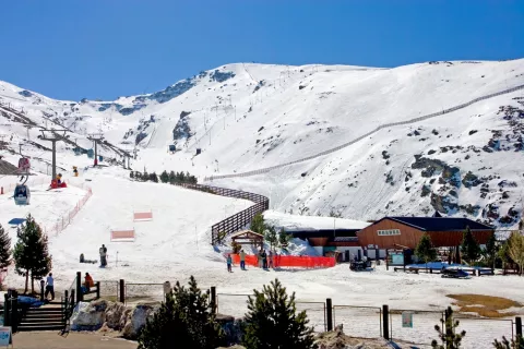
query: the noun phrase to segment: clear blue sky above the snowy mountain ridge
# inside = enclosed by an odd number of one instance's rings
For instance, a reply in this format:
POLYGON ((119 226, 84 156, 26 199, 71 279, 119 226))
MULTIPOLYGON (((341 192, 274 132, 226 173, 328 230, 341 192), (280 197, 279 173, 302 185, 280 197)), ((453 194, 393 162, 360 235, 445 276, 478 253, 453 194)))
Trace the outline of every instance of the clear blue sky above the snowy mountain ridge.
POLYGON ((524 1, 2 1, 0 80, 114 99, 241 61, 396 67, 524 57, 524 1))

